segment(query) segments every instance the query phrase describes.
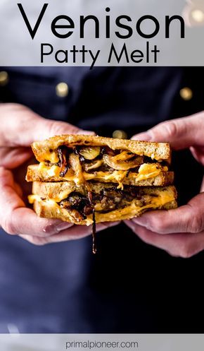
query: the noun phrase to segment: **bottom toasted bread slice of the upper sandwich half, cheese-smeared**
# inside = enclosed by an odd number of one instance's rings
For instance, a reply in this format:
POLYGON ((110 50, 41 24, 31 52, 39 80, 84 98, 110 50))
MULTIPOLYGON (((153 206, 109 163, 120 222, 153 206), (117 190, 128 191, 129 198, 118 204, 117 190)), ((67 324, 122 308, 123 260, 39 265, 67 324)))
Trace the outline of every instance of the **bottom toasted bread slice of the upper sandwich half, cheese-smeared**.
MULTIPOLYGON (((56 168, 56 166, 53 166, 56 168)), ((59 172, 59 170, 58 170, 59 172)), ((54 173, 54 172, 53 172, 54 173)), ((85 180, 97 180, 98 182, 104 182, 104 183, 120 183, 117 182, 117 174, 120 174, 120 171, 115 171, 116 177, 103 177, 103 174, 101 177, 97 175, 91 175, 91 174, 84 174, 84 179, 85 180)), ((96 173, 95 173, 96 174, 96 173)), ((153 173, 152 173, 153 174, 153 173)), ((106 174, 107 175, 107 174, 106 174)), ((137 179, 135 177, 136 174, 134 173, 129 173, 127 177, 122 179, 122 184, 126 185, 132 185, 132 186, 165 186, 172 184, 174 181, 174 172, 158 172, 158 175, 156 177, 153 177, 150 175, 149 178, 145 177, 144 179, 137 179)), ((59 175, 51 174, 49 172, 49 167, 39 167, 39 165, 30 165, 27 168, 27 175, 26 175, 26 180, 27 182, 70 182, 75 180, 75 177, 59 177, 59 175)))

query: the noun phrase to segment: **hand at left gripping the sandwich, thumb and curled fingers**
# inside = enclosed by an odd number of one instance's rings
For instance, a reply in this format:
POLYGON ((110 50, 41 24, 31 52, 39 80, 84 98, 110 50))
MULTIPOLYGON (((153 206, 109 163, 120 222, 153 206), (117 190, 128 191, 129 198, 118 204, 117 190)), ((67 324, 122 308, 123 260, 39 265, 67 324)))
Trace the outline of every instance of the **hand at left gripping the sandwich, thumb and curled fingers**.
MULTIPOLYGON (((39 117, 22 105, 0 105, 0 225, 8 234, 18 234, 37 245, 91 234, 91 226, 39 218, 26 207, 31 186, 25 181, 25 174, 27 165, 34 161, 30 144, 66 133, 94 134, 65 122, 39 117)), ((112 225, 115 223, 104 223, 96 229, 103 230, 112 225)))

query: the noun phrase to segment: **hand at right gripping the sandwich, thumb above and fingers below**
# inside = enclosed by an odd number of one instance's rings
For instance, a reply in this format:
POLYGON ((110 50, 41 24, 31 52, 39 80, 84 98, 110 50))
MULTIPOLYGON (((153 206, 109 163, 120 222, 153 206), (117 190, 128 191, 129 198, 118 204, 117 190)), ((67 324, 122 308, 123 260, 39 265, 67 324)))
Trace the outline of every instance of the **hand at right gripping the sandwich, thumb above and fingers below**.
MULTIPOLYGON (((204 113, 165 121, 146 133, 134 136, 145 141, 169 142, 174 150, 190 148, 204 165, 204 113)), ((200 194, 175 210, 144 213, 126 224, 146 243, 172 256, 191 257, 204 249, 204 182, 200 194)))

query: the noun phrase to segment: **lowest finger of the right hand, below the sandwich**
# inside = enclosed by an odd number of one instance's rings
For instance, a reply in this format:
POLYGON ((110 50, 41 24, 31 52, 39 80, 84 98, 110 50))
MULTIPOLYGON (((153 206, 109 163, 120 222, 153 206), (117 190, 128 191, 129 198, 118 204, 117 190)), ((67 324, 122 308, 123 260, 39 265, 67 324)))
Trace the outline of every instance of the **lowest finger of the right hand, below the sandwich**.
POLYGON ((160 235, 145 227, 136 225, 132 220, 125 220, 126 225, 146 244, 167 251, 172 256, 189 258, 204 248, 204 233, 174 233, 160 235))

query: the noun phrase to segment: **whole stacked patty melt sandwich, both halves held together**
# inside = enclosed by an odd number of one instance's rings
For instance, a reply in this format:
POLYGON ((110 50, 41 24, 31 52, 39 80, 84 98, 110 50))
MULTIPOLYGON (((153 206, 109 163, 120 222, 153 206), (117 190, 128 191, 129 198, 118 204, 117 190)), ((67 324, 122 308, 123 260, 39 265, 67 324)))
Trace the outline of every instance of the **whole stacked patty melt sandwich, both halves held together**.
POLYGON ((41 217, 93 225, 94 233, 99 222, 177 207, 168 143, 68 135, 35 142, 32 150, 39 163, 26 179, 41 217))

